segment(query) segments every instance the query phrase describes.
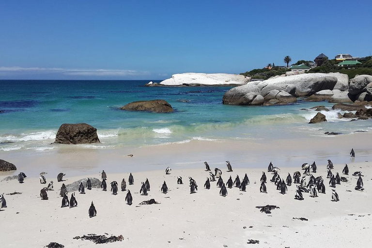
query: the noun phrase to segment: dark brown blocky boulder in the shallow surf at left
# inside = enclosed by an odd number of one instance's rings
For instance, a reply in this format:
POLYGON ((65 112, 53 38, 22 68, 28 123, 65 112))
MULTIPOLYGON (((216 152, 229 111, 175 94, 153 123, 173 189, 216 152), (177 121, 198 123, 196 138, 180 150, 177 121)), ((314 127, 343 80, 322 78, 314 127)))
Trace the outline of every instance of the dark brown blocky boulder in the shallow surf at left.
POLYGON ((90 144, 99 142, 97 129, 86 123, 62 124, 58 129, 56 141, 61 144, 90 144))

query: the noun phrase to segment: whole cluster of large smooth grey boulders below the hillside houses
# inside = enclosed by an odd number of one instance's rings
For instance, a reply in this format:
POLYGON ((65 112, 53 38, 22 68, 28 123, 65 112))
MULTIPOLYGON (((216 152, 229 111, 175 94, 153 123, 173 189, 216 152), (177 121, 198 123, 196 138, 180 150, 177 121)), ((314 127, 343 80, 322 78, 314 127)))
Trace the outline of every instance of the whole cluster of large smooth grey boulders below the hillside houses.
POLYGON ((372 76, 349 80, 341 73, 284 74, 264 81, 253 81, 226 92, 222 102, 233 105, 282 105, 308 97, 307 101, 352 103, 372 100, 372 76))

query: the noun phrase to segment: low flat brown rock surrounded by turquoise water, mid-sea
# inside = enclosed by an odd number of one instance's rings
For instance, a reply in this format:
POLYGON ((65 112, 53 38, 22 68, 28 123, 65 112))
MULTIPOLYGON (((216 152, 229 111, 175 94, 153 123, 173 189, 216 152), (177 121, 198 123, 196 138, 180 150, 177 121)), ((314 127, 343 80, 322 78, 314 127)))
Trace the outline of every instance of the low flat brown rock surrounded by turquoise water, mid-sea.
POLYGON ((156 113, 173 112, 172 106, 165 100, 136 101, 128 103, 120 109, 133 111, 151 111, 156 113))

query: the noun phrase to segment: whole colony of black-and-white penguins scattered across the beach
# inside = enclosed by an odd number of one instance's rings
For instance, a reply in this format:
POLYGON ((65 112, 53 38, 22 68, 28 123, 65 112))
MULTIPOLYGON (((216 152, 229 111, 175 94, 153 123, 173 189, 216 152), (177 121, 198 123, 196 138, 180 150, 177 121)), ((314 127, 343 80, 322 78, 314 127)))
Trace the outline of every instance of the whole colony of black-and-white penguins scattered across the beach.
MULTIPOLYGON (((350 155, 352 157, 355 156, 354 149, 351 150, 350 155)), ((230 178, 228 179, 228 181, 226 182, 226 185, 225 185, 225 183, 223 182, 223 179, 221 177, 222 171, 220 169, 215 168, 215 172, 213 173, 207 162, 204 162, 204 165, 205 165, 206 171, 209 171, 209 177, 207 177, 207 180, 204 183, 204 188, 210 189, 210 187, 211 187, 210 182, 215 182, 216 178, 218 178, 217 187, 220 188, 219 194, 223 197, 225 197, 227 195, 226 186, 228 188, 232 188, 233 186, 235 186, 235 187, 238 187, 241 191, 246 191, 246 186, 249 184, 249 178, 248 178, 247 173, 245 174, 242 181, 240 180, 239 175, 236 175, 236 178, 235 178, 234 181, 233 181, 232 177, 230 176, 230 178)), ((229 161, 226 161, 226 166, 228 168, 228 172, 233 171, 233 168, 232 168, 229 161)), ((294 174, 293 174, 293 178, 291 177, 291 174, 288 173, 288 176, 286 177, 285 181, 279 175, 280 169, 278 167, 274 167, 272 162, 270 162, 267 171, 273 173, 273 177, 270 180, 270 182, 273 182, 277 186, 277 190, 280 190, 281 194, 285 194, 288 191, 287 186, 291 186, 292 183, 297 184, 296 185, 296 190, 295 190, 295 196, 294 196, 294 199, 296 199, 296 200, 304 200, 304 197, 303 197, 302 193, 310 193, 311 197, 317 197, 317 192, 325 194, 325 184, 324 184, 323 177, 322 176, 314 177, 313 174, 312 174, 312 173, 317 172, 317 166, 315 164, 315 161, 312 164, 304 163, 301 166, 301 168, 302 168, 302 170, 304 170, 302 178, 301 178, 301 173, 299 171, 295 171, 294 174)), ((337 184, 340 185, 341 182, 348 182, 347 178, 342 177, 342 176, 340 177, 338 172, 336 172, 336 175, 334 175, 332 173, 333 169, 334 169, 334 166, 333 166, 332 161, 328 160, 327 178, 329 178, 329 186, 330 187, 336 188, 337 184)), ((170 172, 171 172, 171 168, 167 167, 167 169, 165 170, 165 173, 168 175, 168 174, 170 174, 170 172)), ((347 164, 345 164, 345 167, 342 170, 342 173, 345 174, 345 175, 349 175, 349 168, 348 168, 347 164)), ((64 175, 65 175, 64 173, 59 173, 58 174, 58 176, 57 176, 58 182, 63 181, 62 177, 64 175)), ((358 190, 358 191, 363 191, 364 190, 363 179, 362 179, 363 175, 362 175, 361 171, 354 172, 353 176, 358 176, 358 180, 356 182, 355 189, 358 190)), ((18 174, 18 182, 23 183, 25 177, 27 177, 25 175, 25 173, 20 172, 18 174)), ((107 175, 106 175, 105 171, 102 171, 101 177, 102 177, 101 188, 102 188, 102 190, 107 191, 107 183, 106 183, 107 175)), ((267 177, 266 177, 264 171, 262 172, 260 182, 261 182, 260 192, 267 193, 266 185, 265 185, 267 183, 267 177)), ((43 175, 40 176, 40 183, 41 184, 46 184, 47 183, 47 180, 46 180, 45 176, 43 176, 43 175)), ((128 183, 129 183, 129 185, 134 184, 134 178, 133 178, 132 173, 129 174, 128 183)), ((177 184, 183 184, 181 176, 177 177, 177 184)), ((112 194, 117 195, 118 194, 118 183, 116 181, 113 181, 113 182, 110 183, 110 186, 111 186, 112 194)), ((190 186, 190 194, 193 194, 193 193, 197 192, 198 185, 192 177, 189 177, 189 186, 190 186)), ((91 183, 89 178, 87 179, 86 187, 89 190, 92 189, 92 183, 91 183)), ((40 197, 41 197, 42 200, 48 200, 48 196, 47 196, 47 191, 48 190, 53 190, 53 181, 50 181, 50 183, 48 184, 47 187, 44 187, 43 189, 41 189, 40 197)), ((125 181, 124 178, 123 178, 123 181, 121 183, 121 190, 126 191, 126 181, 125 181)), ((141 195, 148 195, 147 191, 149 191, 149 190, 150 190, 150 182, 146 178, 146 181, 141 183, 140 194, 141 195)), ((85 187, 84 187, 84 184, 82 182, 79 182, 78 191, 79 191, 80 194, 85 194, 85 187)), ((164 181, 164 183, 161 187, 161 192, 164 193, 164 194, 168 193, 168 186, 167 186, 165 181, 164 181)), ((69 206, 70 208, 72 208, 72 207, 78 206, 78 202, 75 198, 75 192, 71 193, 71 198, 69 200, 68 196, 67 196, 67 189, 66 189, 66 186, 64 184, 62 184, 61 191, 60 191, 60 196, 62 197, 61 207, 68 207, 69 206)), ((336 189, 332 189, 332 201, 338 202, 339 200, 340 200, 339 195, 337 194, 336 189)), ((131 194, 129 189, 128 189, 128 192, 125 196, 125 201, 128 205, 132 205, 133 197, 132 197, 132 194, 131 194)), ((3 195, 0 195, 0 209, 1 209, 1 207, 6 207, 6 201, 5 201, 3 195)), ((88 212, 89 212, 89 217, 94 217, 97 214, 97 211, 94 207, 93 201, 92 201, 92 204, 91 204, 88 212)))

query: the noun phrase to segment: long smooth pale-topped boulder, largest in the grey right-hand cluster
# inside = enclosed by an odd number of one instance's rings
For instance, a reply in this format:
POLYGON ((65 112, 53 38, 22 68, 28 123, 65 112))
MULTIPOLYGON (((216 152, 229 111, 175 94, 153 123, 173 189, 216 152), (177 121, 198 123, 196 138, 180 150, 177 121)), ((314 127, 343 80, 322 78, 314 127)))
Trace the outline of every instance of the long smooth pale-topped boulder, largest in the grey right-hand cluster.
POLYGON ((325 73, 309 73, 267 79, 262 83, 275 85, 293 84, 296 87, 296 94, 298 96, 310 96, 322 90, 333 90, 337 83, 337 78, 325 73))

